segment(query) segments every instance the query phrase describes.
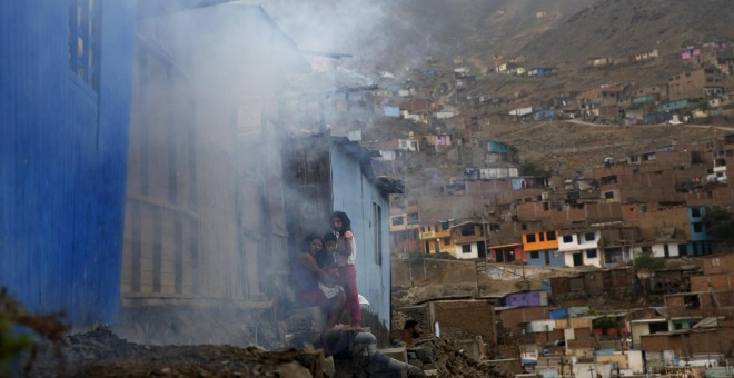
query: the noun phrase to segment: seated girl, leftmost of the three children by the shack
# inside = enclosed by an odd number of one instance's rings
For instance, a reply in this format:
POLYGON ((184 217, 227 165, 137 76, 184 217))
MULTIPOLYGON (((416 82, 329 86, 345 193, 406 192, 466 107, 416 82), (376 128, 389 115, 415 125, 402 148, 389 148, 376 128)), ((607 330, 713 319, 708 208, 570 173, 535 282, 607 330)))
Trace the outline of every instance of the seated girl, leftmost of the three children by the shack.
POLYGON ((316 263, 316 252, 321 249, 321 237, 311 233, 304 239, 302 252, 294 263, 294 288, 296 289, 296 298, 308 305, 318 306, 327 311, 326 329, 329 330, 336 326, 344 309, 345 295, 344 291, 338 290, 333 297, 327 296, 319 288, 319 281, 335 284, 335 279, 321 270, 316 263))

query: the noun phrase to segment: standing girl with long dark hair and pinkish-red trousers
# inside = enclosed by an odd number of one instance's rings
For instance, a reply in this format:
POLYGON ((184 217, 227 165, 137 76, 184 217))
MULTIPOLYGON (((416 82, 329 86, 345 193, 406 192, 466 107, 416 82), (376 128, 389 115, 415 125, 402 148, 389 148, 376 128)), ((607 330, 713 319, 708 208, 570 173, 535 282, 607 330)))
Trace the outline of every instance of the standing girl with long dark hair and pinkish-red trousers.
POLYGON ((357 243, 351 233, 351 221, 346 213, 335 211, 329 218, 334 236, 337 238, 336 258, 339 269, 339 285, 347 296, 346 306, 351 317, 351 328, 361 328, 361 309, 359 307, 359 294, 357 292, 357 269, 355 258, 357 256, 357 243))

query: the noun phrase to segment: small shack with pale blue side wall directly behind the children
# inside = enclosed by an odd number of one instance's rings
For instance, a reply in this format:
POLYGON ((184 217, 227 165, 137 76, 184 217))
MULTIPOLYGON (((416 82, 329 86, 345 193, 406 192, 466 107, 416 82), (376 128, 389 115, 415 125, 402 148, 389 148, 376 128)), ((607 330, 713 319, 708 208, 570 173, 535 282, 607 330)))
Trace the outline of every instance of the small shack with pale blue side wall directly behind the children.
POLYGON ((371 158, 376 151, 347 138, 318 135, 292 140, 289 147, 284 157, 289 248, 297 250, 310 232, 328 231, 333 211, 346 212, 357 241, 357 287, 375 317, 363 324, 386 340, 390 319, 388 196, 403 192, 403 183, 375 177, 371 158))

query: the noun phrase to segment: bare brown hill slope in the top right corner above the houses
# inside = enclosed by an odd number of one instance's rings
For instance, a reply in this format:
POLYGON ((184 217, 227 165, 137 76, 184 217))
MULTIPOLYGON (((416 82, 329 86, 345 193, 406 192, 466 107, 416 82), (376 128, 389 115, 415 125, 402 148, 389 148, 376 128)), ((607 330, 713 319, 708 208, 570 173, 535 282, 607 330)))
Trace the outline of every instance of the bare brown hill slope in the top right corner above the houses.
POLYGON ((583 64, 587 57, 617 57, 649 49, 662 54, 734 39, 734 7, 726 0, 599 1, 526 43, 529 59, 583 64))

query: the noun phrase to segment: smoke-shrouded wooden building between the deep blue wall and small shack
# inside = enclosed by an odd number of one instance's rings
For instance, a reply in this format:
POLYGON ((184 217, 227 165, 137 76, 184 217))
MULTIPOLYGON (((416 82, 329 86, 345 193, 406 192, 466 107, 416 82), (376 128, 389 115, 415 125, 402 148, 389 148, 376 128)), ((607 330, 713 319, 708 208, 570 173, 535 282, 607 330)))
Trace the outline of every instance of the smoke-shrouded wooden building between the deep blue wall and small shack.
POLYGON ((155 317, 149 305, 191 316, 270 308, 289 266, 279 90, 308 62, 260 7, 147 4, 153 13, 136 30, 123 324, 155 317))

